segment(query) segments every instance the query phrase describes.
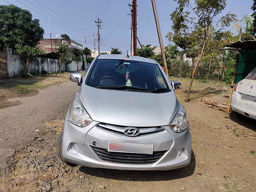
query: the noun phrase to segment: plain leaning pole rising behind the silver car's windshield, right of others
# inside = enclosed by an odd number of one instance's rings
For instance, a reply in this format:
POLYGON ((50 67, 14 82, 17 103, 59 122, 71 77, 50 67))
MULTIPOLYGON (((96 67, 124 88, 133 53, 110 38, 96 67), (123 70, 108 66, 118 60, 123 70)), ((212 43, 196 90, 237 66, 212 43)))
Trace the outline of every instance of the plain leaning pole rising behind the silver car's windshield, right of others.
POLYGON ((155 16, 155 20, 156 20, 156 29, 157 29, 159 44, 160 44, 160 48, 161 48, 161 52, 162 52, 162 60, 164 63, 165 73, 166 73, 167 77, 169 78, 168 68, 167 68, 167 64, 166 64, 166 58, 165 58, 165 54, 164 54, 164 44, 163 44, 163 40, 162 40, 158 15, 157 15, 157 11, 156 11, 156 2, 155 2, 155 0, 151 0, 151 2, 152 2, 152 8, 153 8, 154 16, 155 16))

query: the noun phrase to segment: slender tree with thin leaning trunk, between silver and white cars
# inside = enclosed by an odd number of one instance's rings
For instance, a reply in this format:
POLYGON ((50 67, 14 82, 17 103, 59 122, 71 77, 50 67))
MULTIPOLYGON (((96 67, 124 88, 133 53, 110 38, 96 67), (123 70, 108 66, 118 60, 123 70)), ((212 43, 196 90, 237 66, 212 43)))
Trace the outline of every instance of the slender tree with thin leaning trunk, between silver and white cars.
POLYGON ((214 24, 219 24, 222 28, 230 26, 230 23, 235 20, 236 15, 228 13, 216 21, 218 15, 226 7, 226 0, 194 0, 193 6, 190 4, 190 0, 175 1, 178 3, 178 7, 171 14, 173 33, 168 34, 169 39, 173 39, 176 36, 185 36, 191 41, 191 34, 194 33, 198 40, 197 42, 192 41, 192 44, 197 44, 199 54, 188 88, 186 98, 188 102, 192 83, 204 54, 206 43, 209 37, 216 32, 214 24))

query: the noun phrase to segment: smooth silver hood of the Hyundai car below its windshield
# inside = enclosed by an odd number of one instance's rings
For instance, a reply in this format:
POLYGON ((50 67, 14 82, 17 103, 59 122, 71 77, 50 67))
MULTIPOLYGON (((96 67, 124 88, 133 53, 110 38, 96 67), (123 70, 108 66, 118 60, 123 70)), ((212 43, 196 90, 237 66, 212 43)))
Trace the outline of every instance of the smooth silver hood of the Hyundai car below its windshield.
POLYGON ((120 126, 164 126, 176 115, 174 91, 147 93, 107 90, 83 84, 79 98, 94 121, 120 126))

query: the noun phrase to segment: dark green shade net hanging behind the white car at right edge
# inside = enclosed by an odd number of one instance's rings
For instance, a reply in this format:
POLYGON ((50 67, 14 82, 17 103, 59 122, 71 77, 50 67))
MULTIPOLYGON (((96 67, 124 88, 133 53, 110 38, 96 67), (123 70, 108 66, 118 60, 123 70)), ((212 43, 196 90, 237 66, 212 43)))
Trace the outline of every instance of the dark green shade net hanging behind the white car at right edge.
POLYGON ((246 76, 256 67, 256 51, 239 51, 235 84, 246 76))

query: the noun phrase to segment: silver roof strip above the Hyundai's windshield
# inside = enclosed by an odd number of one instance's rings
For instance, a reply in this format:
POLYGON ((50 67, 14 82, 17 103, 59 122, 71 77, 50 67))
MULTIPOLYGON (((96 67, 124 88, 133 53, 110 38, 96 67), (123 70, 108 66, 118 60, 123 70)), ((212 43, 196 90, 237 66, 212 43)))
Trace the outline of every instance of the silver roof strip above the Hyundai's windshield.
POLYGON ((98 57, 99 59, 126 59, 126 60, 134 60, 134 61, 142 61, 148 63, 156 64, 156 61, 149 58, 138 57, 138 56, 131 56, 129 58, 125 54, 102 54, 98 57))

